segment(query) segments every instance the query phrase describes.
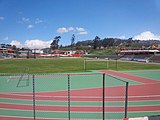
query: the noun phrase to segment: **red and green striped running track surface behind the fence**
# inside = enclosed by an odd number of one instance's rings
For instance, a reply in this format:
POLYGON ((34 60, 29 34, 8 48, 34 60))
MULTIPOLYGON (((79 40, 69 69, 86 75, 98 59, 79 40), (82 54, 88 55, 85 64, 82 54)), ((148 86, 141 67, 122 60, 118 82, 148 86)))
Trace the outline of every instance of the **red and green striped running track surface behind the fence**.
POLYGON ((105 115, 106 120, 121 120, 126 103, 123 81, 129 82, 128 117, 159 115, 159 72, 101 70, 77 74, 1 75, 0 119, 100 120, 105 115))

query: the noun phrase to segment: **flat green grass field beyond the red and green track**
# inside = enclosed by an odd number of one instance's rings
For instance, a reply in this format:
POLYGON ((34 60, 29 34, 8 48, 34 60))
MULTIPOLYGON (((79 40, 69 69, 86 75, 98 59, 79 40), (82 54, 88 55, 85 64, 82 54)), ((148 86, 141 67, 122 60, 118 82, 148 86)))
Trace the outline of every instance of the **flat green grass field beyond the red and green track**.
MULTIPOLYGON (((84 72, 83 58, 54 58, 54 59, 6 59, 0 61, 1 73, 69 73, 84 72)), ((87 70, 107 69, 101 62, 88 64, 87 70), (100 67, 101 66, 101 67, 100 67)), ((126 61, 109 61, 112 70, 146 70, 160 69, 160 64, 144 64, 126 61)))

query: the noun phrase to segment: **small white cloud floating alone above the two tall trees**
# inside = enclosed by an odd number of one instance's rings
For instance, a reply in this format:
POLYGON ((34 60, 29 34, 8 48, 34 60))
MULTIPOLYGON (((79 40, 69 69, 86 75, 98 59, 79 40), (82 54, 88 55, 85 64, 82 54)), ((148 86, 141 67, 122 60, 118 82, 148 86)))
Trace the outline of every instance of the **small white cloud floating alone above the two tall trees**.
POLYGON ((67 32, 75 32, 75 33, 78 33, 80 35, 88 34, 88 32, 82 27, 76 27, 76 28, 73 28, 73 27, 69 27, 69 28, 61 27, 61 28, 57 29, 57 33, 61 33, 62 34, 62 33, 67 33, 67 32))

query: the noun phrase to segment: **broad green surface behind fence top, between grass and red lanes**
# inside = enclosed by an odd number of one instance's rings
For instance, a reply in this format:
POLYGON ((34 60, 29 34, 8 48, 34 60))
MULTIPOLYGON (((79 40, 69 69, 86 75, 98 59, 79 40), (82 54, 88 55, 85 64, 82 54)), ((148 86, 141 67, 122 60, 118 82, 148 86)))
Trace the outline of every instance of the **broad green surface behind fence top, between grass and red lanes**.
MULTIPOLYGON (((103 74, 82 74, 71 76, 71 89, 84 89, 84 88, 99 88, 102 87, 102 76, 103 74)), ((0 76, 1 88, 0 92, 32 92, 32 79, 33 75, 29 75, 29 80, 25 80, 27 76, 24 76, 24 80, 20 82, 20 85, 24 87, 17 87, 20 76, 0 76), (29 86, 26 86, 29 82, 29 86), (26 87, 25 87, 26 86, 26 87)), ((118 78, 118 77, 117 77, 118 78)), ((47 91, 59 91, 67 90, 68 76, 66 74, 59 75, 37 75, 35 76, 35 87, 37 92, 47 91)), ((121 78, 119 78, 121 79, 121 78)), ((124 79, 130 84, 139 84, 139 82, 124 79)), ((123 86, 124 83, 106 76, 106 86, 123 86)))

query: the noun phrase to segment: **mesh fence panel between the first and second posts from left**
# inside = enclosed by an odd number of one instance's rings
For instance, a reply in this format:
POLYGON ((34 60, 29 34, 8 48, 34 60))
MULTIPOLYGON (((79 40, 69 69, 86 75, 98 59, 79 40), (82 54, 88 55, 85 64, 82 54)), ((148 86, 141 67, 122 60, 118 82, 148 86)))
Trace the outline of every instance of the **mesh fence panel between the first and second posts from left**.
POLYGON ((35 75, 36 118, 68 118, 67 75, 35 75))

